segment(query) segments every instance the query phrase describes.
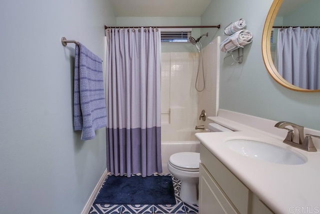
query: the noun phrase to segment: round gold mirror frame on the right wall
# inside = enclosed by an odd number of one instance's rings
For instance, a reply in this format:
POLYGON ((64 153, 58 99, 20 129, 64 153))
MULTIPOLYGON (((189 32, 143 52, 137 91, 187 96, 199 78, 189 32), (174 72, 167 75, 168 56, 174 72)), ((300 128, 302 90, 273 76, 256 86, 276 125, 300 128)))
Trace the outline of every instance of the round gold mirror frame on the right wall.
POLYGON ((269 13, 265 19, 264 28, 262 32, 262 58, 263 58, 265 68, 268 71, 268 73, 271 75, 273 80, 275 80, 275 82, 277 82, 278 84, 280 84, 285 88, 288 88, 293 91, 301 91, 301 92, 320 92, 320 89, 309 90, 309 89, 303 89, 303 88, 299 88, 297 86, 292 85, 291 83, 283 79, 283 77, 278 73, 278 71, 274 67, 274 64, 271 58, 271 51, 270 51, 270 38, 271 38, 272 26, 282 2, 283 0, 273 0, 269 13))

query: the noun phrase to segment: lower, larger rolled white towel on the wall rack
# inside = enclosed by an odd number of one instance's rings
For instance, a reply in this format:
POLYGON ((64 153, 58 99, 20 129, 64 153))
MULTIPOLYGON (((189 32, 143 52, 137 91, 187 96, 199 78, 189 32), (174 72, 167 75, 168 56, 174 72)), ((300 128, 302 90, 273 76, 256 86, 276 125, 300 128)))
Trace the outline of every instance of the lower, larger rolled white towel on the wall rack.
POLYGON ((220 50, 222 52, 232 52, 238 48, 243 48, 243 46, 252 42, 252 33, 247 30, 241 30, 232 34, 226 38, 220 44, 220 50))

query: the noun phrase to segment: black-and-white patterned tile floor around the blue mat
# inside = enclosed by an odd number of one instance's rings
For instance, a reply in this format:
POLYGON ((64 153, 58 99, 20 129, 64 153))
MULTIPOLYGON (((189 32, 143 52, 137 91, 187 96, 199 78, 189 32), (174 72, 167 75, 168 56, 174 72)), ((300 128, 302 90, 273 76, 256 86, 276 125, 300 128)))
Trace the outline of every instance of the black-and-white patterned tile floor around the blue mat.
MULTIPOLYGON (((164 174, 163 174, 164 175, 164 174)), ((171 174, 165 174, 170 175, 171 174)), ((198 213, 198 205, 197 204, 188 204, 181 201, 180 194, 180 186, 181 181, 172 176, 174 194, 175 194, 175 205, 114 205, 114 204, 92 204, 89 213, 182 213, 182 214, 197 214, 198 213)))

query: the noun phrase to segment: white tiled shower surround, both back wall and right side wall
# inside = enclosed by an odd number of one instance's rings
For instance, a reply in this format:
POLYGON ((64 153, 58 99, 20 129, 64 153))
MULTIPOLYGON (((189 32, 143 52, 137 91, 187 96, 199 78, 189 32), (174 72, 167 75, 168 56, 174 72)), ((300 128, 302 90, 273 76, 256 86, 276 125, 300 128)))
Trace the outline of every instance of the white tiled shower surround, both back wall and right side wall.
MULTIPOLYGON (((207 125, 199 121, 202 109, 207 116, 215 116, 218 105, 219 37, 203 49, 205 89, 194 88, 198 69, 197 52, 161 54, 161 140, 196 140, 195 125, 207 125)), ((198 76, 198 88, 202 88, 202 72, 198 76)))

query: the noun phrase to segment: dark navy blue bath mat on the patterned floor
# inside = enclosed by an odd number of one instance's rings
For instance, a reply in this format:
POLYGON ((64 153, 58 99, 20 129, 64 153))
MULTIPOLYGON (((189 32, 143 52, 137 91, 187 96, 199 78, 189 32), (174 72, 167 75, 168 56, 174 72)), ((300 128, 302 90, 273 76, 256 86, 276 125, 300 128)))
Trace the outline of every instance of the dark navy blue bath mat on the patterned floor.
POLYGON ((106 178, 94 203, 175 204, 171 176, 113 176, 106 178))

